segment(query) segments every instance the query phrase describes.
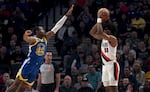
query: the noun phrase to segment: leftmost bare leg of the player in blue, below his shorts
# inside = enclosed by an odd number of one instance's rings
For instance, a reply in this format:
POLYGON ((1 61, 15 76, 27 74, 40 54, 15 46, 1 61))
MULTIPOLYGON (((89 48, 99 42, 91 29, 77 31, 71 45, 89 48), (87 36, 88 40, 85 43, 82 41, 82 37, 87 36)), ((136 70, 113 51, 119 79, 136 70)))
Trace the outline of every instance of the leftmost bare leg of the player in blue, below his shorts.
POLYGON ((13 84, 8 89, 6 89, 5 92, 15 92, 18 86, 20 85, 20 83, 21 83, 21 80, 16 78, 13 84))

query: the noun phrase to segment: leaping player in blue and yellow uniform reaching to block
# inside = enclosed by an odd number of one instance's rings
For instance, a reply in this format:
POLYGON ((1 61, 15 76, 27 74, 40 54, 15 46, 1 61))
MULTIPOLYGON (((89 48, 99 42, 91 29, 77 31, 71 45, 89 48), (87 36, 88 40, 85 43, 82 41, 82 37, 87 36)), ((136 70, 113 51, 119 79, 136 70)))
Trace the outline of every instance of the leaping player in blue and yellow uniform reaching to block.
POLYGON ((71 6, 51 31, 45 33, 43 27, 37 27, 35 29, 35 36, 30 36, 32 34, 31 30, 25 31, 23 39, 29 43, 28 58, 25 59, 16 75, 14 83, 6 90, 6 92, 24 92, 26 88, 32 87, 37 78, 39 68, 43 63, 48 40, 63 26, 67 17, 72 14, 73 7, 74 5, 71 6))

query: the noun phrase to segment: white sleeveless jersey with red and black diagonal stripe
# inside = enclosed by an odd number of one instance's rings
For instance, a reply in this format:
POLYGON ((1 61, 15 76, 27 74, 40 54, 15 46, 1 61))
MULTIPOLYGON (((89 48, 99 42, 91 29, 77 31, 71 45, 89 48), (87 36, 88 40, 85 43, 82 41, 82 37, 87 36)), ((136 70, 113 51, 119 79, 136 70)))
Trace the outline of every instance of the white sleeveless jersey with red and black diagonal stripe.
POLYGON ((116 62, 117 46, 112 47, 108 40, 103 39, 101 43, 101 57, 103 64, 116 62))

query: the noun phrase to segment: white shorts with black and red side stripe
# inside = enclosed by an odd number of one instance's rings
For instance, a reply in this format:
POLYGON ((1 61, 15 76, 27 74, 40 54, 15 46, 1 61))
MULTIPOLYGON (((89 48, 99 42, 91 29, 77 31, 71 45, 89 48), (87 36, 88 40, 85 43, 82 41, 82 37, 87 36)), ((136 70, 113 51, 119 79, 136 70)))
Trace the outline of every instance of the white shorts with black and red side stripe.
POLYGON ((102 82, 104 87, 118 86, 120 67, 118 62, 112 62, 102 66, 102 82))

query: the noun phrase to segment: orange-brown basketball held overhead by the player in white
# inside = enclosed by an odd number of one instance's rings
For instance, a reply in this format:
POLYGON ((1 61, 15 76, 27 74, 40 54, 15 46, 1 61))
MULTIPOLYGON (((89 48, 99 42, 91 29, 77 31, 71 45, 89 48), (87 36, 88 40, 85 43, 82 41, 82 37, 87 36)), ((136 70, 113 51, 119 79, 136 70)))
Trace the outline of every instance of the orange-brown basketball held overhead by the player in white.
POLYGON ((107 8, 100 8, 98 10, 98 17, 102 18, 103 21, 107 21, 109 19, 109 10, 107 8))

